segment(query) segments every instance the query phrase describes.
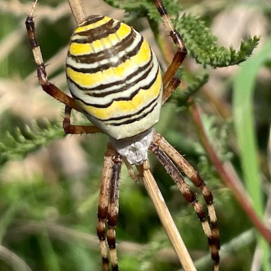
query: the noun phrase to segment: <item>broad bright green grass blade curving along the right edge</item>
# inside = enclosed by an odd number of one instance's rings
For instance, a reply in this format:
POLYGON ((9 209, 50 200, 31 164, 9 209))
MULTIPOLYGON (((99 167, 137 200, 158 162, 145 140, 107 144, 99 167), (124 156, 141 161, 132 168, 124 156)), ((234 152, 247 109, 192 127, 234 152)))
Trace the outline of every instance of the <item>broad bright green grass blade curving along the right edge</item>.
MULTIPOLYGON (((260 217, 264 213, 264 193, 261 187, 260 168, 257 159, 257 141, 253 116, 253 95, 257 73, 271 59, 271 40, 267 40, 261 51, 243 63, 237 73, 233 89, 233 116, 244 183, 252 204, 260 217)), ((258 239, 259 240, 259 239, 258 239)), ((263 270, 271 270, 268 244, 259 240, 263 251, 263 270)))

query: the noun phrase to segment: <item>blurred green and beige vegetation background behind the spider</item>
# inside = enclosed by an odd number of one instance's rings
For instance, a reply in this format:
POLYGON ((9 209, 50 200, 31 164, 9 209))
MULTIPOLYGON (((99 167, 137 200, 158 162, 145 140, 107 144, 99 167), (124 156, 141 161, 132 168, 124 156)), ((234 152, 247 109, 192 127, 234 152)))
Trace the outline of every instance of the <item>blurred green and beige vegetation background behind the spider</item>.
MULTIPOLYGON (((207 67, 210 79, 195 98, 204 112, 204 127, 218 156, 228 172, 233 177, 237 173, 244 186, 253 191, 251 202, 259 214, 266 210, 266 225, 270 227, 271 56, 265 48, 271 38, 271 1, 179 2, 186 13, 203 18, 221 45, 238 49, 241 38, 262 37, 248 66, 243 63, 227 68, 207 67), (263 60, 259 64, 260 58, 263 60), (255 78, 251 75, 254 73, 255 78), (238 96, 238 87, 244 89, 243 96, 238 96), (247 111, 248 122, 243 123, 246 120, 238 118, 243 116, 238 110, 246 102, 252 115, 247 111), (238 127, 245 131, 244 135, 240 135, 238 127), (247 127, 253 129, 246 132, 247 127), (243 157, 248 158, 249 166, 243 157), (253 174, 257 176, 253 178, 255 183, 247 184, 253 174), (259 196, 259 201, 253 194, 259 196)), ((124 18, 124 10, 103 1, 83 3, 87 14, 124 18)), ((36 78, 24 25, 31 6, 32 2, 26 0, 0 0, 0 271, 100 270, 97 203, 108 138, 66 136, 62 131, 64 107, 42 91, 36 78)), ((64 63, 69 36, 75 27, 68 2, 42 0, 34 15, 49 80, 68 92, 64 63)), ((159 38, 168 44, 163 49, 164 56, 145 18, 134 18, 130 24, 152 44, 165 69, 174 46, 163 25, 159 38)), ((205 72, 189 57, 184 67, 186 78, 205 72)), ((184 80, 181 89, 185 85, 184 80)), ((86 122, 80 114, 74 115, 73 121, 86 122)), ((187 108, 174 99, 167 102, 156 129, 185 155, 213 192, 224 245, 221 270, 261 270, 261 266, 268 270, 265 260, 261 264, 257 232, 209 162, 187 108)), ((176 225, 193 259, 198 261, 198 270, 210 270, 207 240, 193 208, 153 157, 151 164, 176 225)), ((202 200, 200 192, 196 192, 202 200)), ((116 231, 122 271, 180 270, 144 187, 133 183, 124 167, 116 231)), ((270 256, 268 251, 264 255, 270 256)))

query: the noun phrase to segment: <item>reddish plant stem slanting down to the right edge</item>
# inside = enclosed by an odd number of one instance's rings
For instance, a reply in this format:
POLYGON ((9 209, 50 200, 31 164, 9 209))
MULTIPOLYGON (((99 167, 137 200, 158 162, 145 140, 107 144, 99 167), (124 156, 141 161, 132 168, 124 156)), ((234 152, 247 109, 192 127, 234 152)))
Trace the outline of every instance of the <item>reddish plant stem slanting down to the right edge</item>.
POLYGON ((199 107, 196 105, 196 103, 192 102, 190 106, 191 114, 194 118, 194 121, 196 123, 197 129, 199 130, 199 135, 201 137, 201 141, 203 143, 203 147, 216 168, 218 174, 220 175, 221 179, 225 182, 225 184, 232 190, 237 202, 240 203, 241 207, 245 211, 245 213, 250 218, 251 222, 254 224, 254 226, 258 229, 258 231, 262 234, 262 236, 267 240, 269 244, 271 244, 271 231, 264 225, 262 220, 259 218, 259 216, 254 211, 253 207, 250 204, 249 198, 245 193, 245 190, 243 187, 240 186, 239 183, 237 183, 227 172, 225 169, 223 163, 216 155, 216 152, 213 148, 213 146, 210 144, 207 135, 205 133, 200 110, 199 107))

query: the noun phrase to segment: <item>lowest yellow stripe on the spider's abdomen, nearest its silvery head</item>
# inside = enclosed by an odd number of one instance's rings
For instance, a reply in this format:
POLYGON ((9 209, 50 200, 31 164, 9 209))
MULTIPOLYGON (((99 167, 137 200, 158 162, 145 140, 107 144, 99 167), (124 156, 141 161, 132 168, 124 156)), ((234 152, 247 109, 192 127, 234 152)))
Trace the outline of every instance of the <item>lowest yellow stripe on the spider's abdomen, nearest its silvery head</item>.
POLYGON ((159 70, 158 77, 154 84, 148 90, 140 89, 135 97, 130 101, 114 101, 107 108, 97 108, 94 106, 86 105, 84 102, 77 101, 80 108, 84 109, 88 114, 99 118, 108 119, 110 117, 118 117, 126 114, 134 114, 138 108, 146 105, 159 96, 162 84, 162 76, 159 70))

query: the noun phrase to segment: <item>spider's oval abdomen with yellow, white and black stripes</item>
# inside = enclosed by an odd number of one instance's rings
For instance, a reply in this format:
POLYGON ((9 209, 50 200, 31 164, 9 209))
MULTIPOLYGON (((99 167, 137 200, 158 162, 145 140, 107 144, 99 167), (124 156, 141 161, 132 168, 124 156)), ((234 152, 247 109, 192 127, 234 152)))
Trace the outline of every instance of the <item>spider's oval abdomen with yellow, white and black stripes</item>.
POLYGON ((87 17, 71 36, 66 72, 82 111, 110 137, 138 135, 158 122, 161 70, 149 44, 130 26, 87 17))

